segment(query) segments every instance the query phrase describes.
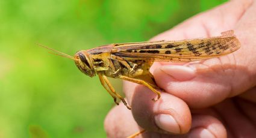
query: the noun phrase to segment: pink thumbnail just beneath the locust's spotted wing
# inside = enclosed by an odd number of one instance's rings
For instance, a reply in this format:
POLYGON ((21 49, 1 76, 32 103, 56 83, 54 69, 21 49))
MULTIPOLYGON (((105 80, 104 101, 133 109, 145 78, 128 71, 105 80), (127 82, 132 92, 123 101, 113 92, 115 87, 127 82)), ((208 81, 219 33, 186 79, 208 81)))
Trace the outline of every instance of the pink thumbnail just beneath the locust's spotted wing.
POLYGON ((196 76, 195 69, 183 65, 164 65, 160 68, 176 80, 191 80, 196 76))

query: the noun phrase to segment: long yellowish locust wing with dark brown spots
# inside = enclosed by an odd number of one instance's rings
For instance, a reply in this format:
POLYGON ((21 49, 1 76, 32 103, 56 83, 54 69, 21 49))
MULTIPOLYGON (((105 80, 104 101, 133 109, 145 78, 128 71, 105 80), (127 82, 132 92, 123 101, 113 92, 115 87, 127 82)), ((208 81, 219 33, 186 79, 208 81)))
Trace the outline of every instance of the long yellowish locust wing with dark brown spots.
POLYGON ((219 37, 181 41, 115 44, 111 55, 126 61, 189 62, 227 55, 240 48, 233 31, 222 32, 219 37))

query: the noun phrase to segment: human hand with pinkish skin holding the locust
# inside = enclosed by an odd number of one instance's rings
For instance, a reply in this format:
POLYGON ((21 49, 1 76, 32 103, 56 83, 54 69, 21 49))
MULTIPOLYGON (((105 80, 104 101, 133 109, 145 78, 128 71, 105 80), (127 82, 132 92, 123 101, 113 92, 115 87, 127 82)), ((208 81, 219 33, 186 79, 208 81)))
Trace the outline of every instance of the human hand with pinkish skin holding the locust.
POLYGON ((256 2, 233 0, 200 13, 155 40, 212 37, 233 29, 241 48, 220 58, 188 63, 155 62, 151 72, 161 98, 124 82, 132 109, 120 104, 105 119, 108 137, 256 136, 256 2))

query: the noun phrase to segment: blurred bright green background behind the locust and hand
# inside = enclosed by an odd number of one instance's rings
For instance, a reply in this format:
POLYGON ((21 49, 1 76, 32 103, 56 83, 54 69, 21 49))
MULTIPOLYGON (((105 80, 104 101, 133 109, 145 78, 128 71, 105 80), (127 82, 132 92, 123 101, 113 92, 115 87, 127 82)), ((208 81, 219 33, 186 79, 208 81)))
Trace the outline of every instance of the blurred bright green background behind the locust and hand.
MULTIPOLYGON (((36 43, 73 55, 146 41, 225 0, 0 1, 0 137, 105 137, 113 100, 98 77, 36 43)), ((120 81, 114 81, 122 91, 120 81)))

